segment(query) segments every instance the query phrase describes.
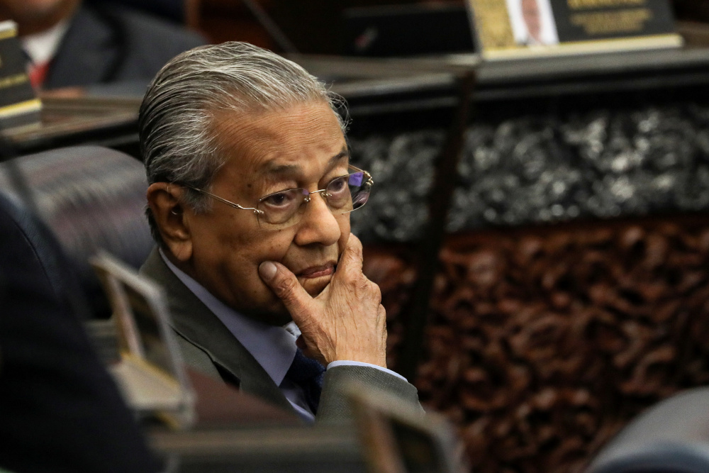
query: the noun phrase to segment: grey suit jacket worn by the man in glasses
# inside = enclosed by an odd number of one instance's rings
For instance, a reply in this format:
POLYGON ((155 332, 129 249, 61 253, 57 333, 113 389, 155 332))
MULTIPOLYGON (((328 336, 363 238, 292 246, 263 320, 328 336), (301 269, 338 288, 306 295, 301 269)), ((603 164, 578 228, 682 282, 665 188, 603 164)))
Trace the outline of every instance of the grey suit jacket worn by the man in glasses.
MULTIPOLYGON (((165 265, 157 249, 147 257, 140 273, 162 284, 167 293, 172 327, 184 361, 211 377, 239 386, 242 391, 269 401, 286 411, 295 412, 281 390, 255 358, 230 333, 177 276, 165 265)), ((418 406, 418 392, 411 384, 380 369, 340 366, 325 372, 323 393, 316 421, 348 421, 350 412, 339 387, 356 383, 364 389, 380 389, 398 396, 403 403, 418 406)), ((423 411, 423 410, 422 410, 423 411)))

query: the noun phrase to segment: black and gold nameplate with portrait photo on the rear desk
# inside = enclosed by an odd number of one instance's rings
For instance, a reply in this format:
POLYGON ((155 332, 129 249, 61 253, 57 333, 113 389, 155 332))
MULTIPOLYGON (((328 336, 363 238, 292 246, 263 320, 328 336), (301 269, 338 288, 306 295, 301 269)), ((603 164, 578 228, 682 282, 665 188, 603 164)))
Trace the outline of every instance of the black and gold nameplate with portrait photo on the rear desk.
POLYGON ((668 0, 468 0, 486 60, 679 48, 668 0))

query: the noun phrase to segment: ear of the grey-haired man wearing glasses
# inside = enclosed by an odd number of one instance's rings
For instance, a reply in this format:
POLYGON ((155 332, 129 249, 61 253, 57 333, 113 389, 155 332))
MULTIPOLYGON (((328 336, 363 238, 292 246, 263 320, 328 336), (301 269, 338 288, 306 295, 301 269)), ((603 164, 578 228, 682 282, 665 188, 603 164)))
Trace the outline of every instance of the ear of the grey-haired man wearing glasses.
POLYGON ((192 235, 189 230, 189 215, 184 212, 181 186, 167 182, 155 182, 147 188, 147 205, 155 218, 162 241, 180 262, 192 256, 192 235))

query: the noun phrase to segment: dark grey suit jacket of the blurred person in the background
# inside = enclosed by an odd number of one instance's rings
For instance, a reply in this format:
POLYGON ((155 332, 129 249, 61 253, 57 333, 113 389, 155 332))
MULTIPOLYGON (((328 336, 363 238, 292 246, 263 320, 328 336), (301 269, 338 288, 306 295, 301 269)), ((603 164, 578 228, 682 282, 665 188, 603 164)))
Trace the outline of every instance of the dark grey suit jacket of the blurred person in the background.
POLYGON ((110 3, 81 5, 43 88, 144 80, 182 51, 206 43, 196 33, 110 3))

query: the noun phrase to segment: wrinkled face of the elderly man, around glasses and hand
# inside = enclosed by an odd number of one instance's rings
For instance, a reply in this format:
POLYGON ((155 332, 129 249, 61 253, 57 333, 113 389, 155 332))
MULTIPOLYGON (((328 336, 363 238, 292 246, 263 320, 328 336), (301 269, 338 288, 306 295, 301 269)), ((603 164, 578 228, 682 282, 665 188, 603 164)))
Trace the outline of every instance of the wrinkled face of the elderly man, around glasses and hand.
MULTIPOLYGON (((324 102, 247 118, 224 111, 215 123, 229 160, 210 191, 241 206, 254 207, 261 197, 284 189, 323 189, 347 174, 345 137, 324 102)), ((349 214, 333 215, 320 195, 305 204, 301 221, 278 230, 259 226, 252 211, 211 204, 208 213, 185 211, 192 249, 186 267, 226 304, 267 323, 287 323, 290 316, 259 277, 259 264, 283 263, 315 296, 332 279, 350 236, 349 214)))

